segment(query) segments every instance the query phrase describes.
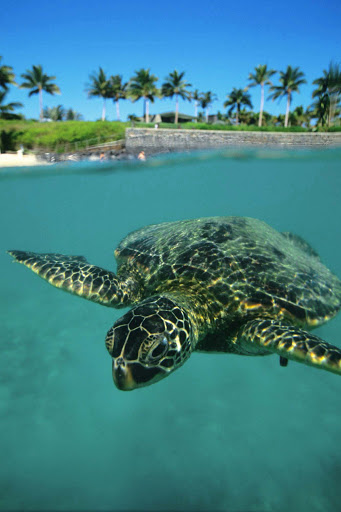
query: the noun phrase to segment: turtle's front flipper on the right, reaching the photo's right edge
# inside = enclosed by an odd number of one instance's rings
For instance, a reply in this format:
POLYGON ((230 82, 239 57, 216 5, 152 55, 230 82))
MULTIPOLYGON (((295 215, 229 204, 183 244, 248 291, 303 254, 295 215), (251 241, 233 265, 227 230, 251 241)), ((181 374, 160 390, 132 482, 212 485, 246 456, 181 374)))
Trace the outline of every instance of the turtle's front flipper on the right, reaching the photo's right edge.
MULTIPOLYGON (((246 354, 278 354, 341 375, 341 350, 318 336, 275 320, 252 320, 234 339, 246 354)), ((283 361, 284 362, 284 361, 283 361)))

